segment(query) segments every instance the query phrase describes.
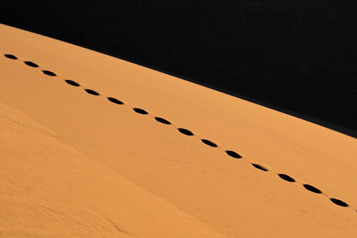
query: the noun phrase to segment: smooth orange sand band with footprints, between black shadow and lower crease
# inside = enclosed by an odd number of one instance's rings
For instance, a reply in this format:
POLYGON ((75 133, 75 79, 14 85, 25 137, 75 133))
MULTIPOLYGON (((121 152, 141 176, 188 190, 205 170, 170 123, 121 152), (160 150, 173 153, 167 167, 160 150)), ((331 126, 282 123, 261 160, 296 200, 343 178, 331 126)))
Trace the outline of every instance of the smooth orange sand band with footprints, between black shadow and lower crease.
POLYGON ((218 233, 356 232, 355 139, 58 40, 0 30, 0 53, 19 57, 0 58, 0 99, 59 143, 218 233))

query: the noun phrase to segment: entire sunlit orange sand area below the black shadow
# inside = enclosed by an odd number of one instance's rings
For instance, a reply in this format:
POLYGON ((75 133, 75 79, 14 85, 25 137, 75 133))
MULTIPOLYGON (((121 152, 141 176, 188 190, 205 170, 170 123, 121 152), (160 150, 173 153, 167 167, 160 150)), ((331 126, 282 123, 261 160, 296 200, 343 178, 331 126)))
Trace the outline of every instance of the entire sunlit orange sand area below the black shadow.
POLYGON ((356 139, 58 40, 0 35, 3 234, 356 234, 356 139))

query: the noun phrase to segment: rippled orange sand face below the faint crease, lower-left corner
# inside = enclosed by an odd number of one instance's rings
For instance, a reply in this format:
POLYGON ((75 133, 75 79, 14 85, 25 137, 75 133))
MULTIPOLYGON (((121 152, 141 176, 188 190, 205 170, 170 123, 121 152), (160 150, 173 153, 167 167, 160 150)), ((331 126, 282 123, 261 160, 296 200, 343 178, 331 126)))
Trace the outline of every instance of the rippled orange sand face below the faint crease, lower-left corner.
POLYGON ((22 112, 0 110, 0 235, 220 236, 22 112))

